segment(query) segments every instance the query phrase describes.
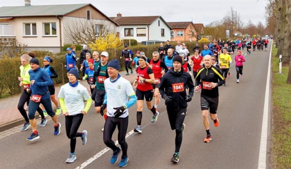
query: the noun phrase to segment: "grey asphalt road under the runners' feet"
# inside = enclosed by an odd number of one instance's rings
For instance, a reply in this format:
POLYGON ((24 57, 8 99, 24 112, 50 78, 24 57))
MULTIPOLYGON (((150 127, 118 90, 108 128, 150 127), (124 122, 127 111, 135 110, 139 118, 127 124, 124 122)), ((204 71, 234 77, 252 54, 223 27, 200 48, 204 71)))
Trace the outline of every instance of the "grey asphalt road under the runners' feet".
MULTIPOLYGON (((246 51, 243 51, 246 53, 246 51)), ((188 104, 184 123, 180 161, 172 164, 170 159, 175 151, 175 131, 170 129, 164 100, 158 107, 160 116, 150 123, 152 113, 144 106, 142 134, 127 138, 129 163, 127 169, 258 169, 264 94, 270 52, 252 52, 246 55, 243 78, 236 83, 235 65, 227 86, 219 87, 219 127, 210 121, 212 140, 204 143, 206 132, 202 123, 200 93, 194 93, 188 104)), ((232 55, 234 58, 235 55, 232 55)), ((270 120, 269 120, 270 121, 270 120)), ((61 134, 53 135, 53 123, 38 127, 40 139, 27 141, 31 129, 17 132, 0 139, 0 169, 75 169, 106 148, 101 128, 104 119, 96 114, 94 105, 84 116, 79 131, 88 131, 88 142, 81 145, 77 139, 77 160, 66 164, 70 153, 70 140, 65 134, 65 118, 59 117, 61 134)), ((128 132, 136 126, 136 105, 129 108, 128 132)), ((19 128, 20 130, 20 128, 19 128)), ((117 140, 117 129, 113 134, 117 140)), ((108 151, 88 164, 85 169, 115 169, 109 163, 112 151, 108 151)))

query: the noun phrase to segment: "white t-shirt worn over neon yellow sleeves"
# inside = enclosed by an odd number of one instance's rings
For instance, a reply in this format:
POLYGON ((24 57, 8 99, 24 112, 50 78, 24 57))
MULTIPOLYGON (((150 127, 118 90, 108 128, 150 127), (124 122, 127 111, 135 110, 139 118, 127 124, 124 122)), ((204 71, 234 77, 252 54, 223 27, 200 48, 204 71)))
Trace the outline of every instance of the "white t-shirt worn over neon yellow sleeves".
POLYGON ((65 108, 69 116, 80 114, 85 108, 83 99, 88 100, 91 98, 87 88, 81 85, 81 83, 76 87, 70 86, 69 83, 63 85, 58 97, 65 99, 65 108))

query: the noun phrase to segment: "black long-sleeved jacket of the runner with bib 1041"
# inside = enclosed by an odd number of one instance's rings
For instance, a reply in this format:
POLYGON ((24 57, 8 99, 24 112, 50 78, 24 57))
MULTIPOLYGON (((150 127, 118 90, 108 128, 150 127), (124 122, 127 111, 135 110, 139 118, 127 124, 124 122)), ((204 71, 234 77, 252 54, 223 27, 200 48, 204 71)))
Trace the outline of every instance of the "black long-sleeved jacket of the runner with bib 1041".
POLYGON ((162 82, 159 88, 162 98, 164 99, 164 94, 173 97, 172 102, 166 105, 168 108, 179 109, 187 107, 187 102, 185 101, 187 96, 186 85, 189 87, 189 94, 193 96, 194 94, 193 80, 189 73, 184 72, 183 68, 181 68, 180 72, 175 72, 173 68, 171 68, 162 77, 162 82), (172 85, 175 83, 183 83, 184 90, 181 92, 173 92, 172 85))

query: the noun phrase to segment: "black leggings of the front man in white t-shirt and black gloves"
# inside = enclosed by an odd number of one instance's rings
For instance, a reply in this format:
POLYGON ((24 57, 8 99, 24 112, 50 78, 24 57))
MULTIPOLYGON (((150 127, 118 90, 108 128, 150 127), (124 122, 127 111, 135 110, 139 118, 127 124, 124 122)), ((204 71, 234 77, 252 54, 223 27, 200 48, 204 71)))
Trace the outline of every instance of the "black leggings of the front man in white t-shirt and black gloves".
POLYGON ((127 157, 128 144, 125 141, 125 135, 127 133, 128 124, 129 116, 125 118, 107 116, 107 120, 104 124, 103 141, 107 147, 113 150, 113 152, 116 152, 117 150, 117 147, 112 140, 112 135, 117 125, 118 143, 121 146, 122 157, 127 157))

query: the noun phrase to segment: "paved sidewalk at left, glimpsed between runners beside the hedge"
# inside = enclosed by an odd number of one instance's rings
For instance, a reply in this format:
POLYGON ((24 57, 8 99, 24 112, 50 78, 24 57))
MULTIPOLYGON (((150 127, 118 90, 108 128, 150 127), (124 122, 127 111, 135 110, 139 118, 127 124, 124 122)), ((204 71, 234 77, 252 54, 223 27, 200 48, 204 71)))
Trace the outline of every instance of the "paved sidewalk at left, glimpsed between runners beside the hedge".
MULTIPOLYGON (((137 77, 135 71, 133 71, 133 74, 130 74, 129 76, 125 76, 126 71, 121 71, 121 72, 119 72, 119 74, 122 77, 124 77, 127 80, 129 80, 130 83, 132 83, 135 80, 135 78, 137 77)), ((80 82, 81 82, 81 84, 83 86, 86 86, 88 88, 88 91, 90 91, 89 85, 85 80, 81 80, 80 82)), ((56 86, 55 87, 55 90, 56 90, 55 91, 55 96, 56 97, 59 94, 60 88, 61 88, 61 86, 56 86)), ((18 101, 19 101, 20 95, 21 95, 21 93, 13 95, 11 97, 0 99, 0 105, 1 105, 1 109, 0 109, 0 132, 4 131, 4 130, 7 130, 9 128, 15 127, 17 125, 25 123, 23 117, 21 116, 20 112, 17 109, 17 105, 18 105, 18 101)), ((53 103, 52 103, 52 108, 54 110, 56 109, 56 107, 55 107, 55 105, 53 103)), ((36 114, 37 115, 35 115, 35 118, 39 118, 38 117, 38 113, 36 113, 36 114)))

